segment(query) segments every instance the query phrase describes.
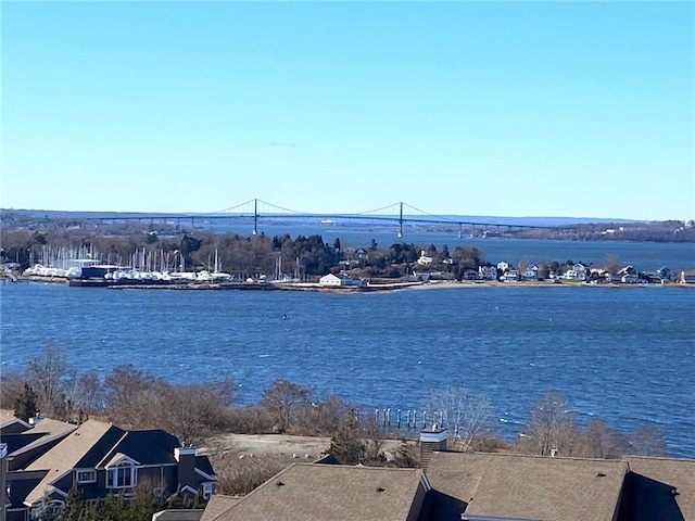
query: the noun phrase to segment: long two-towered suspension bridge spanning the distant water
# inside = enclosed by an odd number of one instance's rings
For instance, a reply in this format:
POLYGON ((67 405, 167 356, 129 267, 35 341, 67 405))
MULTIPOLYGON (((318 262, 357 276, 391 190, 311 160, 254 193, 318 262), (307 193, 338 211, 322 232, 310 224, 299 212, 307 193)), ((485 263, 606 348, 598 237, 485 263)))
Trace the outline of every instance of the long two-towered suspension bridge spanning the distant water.
POLYGON ((198 225, 205 226, 213 223, 241 223, 251 221, 253 224, 252 234, 257 234, 262 223, 287 221, 291 219, 298 223, 315 223, 317 225, 332 224, 370 224, 370 225, 394 225, 397 229, 397 237, 404 234, 404 226, 424 227, 446 227, 447 229, 458 229, 459 238, 465 230, 489 230, 489 229, 555 229, 557 226, 520 225, 501 221, 486 220, 485 218, 467 217, 462 219, 456 216, 442 216, 421 211, 404 202, 393 203, 367 212, 356 214, 342 213, 311 213, 290 209, 268 203, 261 199, 252 199, 241 204, 223 208, 211 213, 195 214, 162 214, 162 213, 102 213, 99 216, 84 217, 87 220, 100 220, 102 223, 113 223, 123 220, 141 220, 156 223, 190 223, 191 228, 198 225))

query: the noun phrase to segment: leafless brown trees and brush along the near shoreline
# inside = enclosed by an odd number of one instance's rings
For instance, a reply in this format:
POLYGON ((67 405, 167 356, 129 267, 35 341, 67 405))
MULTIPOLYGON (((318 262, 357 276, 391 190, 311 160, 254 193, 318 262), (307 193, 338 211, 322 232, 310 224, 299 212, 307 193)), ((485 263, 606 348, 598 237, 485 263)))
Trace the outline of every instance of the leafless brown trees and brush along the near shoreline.
MULTIPOLYGON (((380 442, 384 437, 407 437, 374 411, 361 411, 340 396, 317 397, 286 379, 274 381, 256 403, 238 404, 238 387, 230 378, 172 383, 127 364, 100 379, 94 372, 78 373, 67 354, 52 344, 31 358, 24 371, 5 370, 2 377, 0 405, 24 420, 37 412, 74 423, 91 417, 125 429, 163 429, 193 445, 224 432, 331 436, 333 456, 364 465, 387 463, 380 442)), ((491 401, 464 387, 432 390, 422 405, 430 411, 426 421, 448 428, 450 448, 455 450, 504 448, 591 458, 666 453, 657 429, 618 432, 598 418, 582 424, 576 409, 552 390, 531 405, 513 441, 495 432, 497 416, 491 401)))

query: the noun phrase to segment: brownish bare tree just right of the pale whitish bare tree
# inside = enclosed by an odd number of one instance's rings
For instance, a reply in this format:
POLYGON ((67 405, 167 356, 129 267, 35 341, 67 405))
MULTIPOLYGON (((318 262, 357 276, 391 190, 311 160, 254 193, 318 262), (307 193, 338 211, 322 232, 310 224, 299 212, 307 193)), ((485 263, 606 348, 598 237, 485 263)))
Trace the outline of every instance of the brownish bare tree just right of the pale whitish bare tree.
POLYGON ((574 411, 557 391, 545 391, 531 406, 521 445, 541 456, 571 456, 577 435, 574 411))

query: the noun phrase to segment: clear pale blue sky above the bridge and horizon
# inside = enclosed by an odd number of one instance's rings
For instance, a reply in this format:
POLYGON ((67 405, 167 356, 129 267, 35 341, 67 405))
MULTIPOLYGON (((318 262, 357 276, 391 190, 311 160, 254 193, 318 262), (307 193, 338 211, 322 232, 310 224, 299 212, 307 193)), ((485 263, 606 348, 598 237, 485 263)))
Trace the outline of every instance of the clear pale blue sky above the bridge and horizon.
POLYGON ((1 10, 4 208, 695 217, 693 2, 1 10))

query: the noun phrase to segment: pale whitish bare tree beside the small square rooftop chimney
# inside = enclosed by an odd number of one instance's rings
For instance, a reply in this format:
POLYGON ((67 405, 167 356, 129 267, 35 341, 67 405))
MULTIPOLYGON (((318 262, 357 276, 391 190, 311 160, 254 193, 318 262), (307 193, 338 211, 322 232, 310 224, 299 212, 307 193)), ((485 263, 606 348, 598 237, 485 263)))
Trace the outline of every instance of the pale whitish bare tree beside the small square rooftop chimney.
POLYGON ((475 449, 476 441, 489 430, 494 414, 490 399, 476 397, 454 385, 433 390, 426 407, 438 423, 448 429, 452 448, 464 453, 475 449))

